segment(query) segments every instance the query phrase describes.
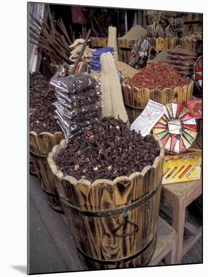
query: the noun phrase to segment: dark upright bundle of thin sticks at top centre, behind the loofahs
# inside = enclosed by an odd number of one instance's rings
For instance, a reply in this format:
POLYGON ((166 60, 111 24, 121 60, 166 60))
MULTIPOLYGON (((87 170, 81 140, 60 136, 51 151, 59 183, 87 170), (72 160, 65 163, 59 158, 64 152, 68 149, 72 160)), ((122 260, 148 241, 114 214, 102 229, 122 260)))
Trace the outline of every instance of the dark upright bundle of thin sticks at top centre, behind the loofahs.
POLYGON ((109 26, 117 28, 118 37, 125 32, 125 9, 85 8, 93 37, 108 37, 109 26))

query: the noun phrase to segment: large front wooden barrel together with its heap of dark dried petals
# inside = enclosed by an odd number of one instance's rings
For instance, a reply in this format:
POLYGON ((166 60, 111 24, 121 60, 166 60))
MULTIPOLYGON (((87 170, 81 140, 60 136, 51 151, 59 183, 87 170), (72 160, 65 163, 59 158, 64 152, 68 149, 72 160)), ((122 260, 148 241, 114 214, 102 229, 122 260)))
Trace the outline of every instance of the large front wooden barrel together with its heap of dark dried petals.
POLYGON ((48 163, 85 268, 150 262, 157 240, 163 158, 156 136, 142 137, 113 117, 101 118, 79 139, 53 148, 48 163))

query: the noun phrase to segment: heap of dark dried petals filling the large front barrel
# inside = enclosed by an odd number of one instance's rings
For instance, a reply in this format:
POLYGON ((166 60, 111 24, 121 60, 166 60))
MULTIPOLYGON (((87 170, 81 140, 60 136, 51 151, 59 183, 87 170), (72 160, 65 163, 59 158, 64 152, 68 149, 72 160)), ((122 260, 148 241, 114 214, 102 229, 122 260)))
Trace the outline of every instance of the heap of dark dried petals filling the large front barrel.
POLYGON ((64 175, 114 180, 152 165, 160 148, 151 135, 142 137, 125 122, 103 117, 62 149, 55 161, 64 175))

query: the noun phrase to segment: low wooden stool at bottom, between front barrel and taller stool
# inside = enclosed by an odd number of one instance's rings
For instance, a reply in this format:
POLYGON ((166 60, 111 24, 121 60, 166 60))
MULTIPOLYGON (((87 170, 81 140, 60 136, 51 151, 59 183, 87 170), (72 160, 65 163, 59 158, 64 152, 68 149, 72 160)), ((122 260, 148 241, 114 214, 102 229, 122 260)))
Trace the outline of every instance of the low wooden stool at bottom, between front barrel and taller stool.
POLYGON ((157 228, 157 244, 149 265, 157 265, 165 258, 168 264, 176 263, 177 233, 159 217, 157 228))

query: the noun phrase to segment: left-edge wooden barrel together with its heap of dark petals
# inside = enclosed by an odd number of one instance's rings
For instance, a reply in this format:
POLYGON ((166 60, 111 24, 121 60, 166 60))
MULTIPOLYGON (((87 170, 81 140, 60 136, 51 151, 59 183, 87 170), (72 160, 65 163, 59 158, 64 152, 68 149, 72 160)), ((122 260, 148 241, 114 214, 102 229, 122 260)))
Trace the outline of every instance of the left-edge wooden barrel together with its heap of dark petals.
POLYGON ((48 153, 63 139, 61 128, 54 119, 54 92, 42 74, 30 75, 30 161, 40 178, 49 206, 62 213, 54 177, 47 163, 48 153))

